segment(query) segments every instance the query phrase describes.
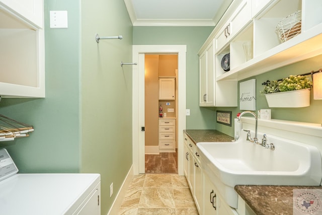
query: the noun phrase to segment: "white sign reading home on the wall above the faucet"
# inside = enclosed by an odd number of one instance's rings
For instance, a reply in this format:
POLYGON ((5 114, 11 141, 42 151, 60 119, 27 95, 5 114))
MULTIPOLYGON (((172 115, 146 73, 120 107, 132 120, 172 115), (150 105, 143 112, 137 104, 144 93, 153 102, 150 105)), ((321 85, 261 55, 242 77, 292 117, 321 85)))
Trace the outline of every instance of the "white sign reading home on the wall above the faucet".
POLYGON ((239 109, 256 110, 256 79, 239 83, 239 109))

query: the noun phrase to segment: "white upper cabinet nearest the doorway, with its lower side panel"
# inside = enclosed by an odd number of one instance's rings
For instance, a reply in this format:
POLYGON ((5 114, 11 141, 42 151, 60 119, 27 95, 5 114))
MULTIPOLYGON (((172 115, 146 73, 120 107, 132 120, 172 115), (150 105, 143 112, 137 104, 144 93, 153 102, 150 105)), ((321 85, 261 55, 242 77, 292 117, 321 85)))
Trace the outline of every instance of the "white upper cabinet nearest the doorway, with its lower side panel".
POLYGON ((199 57, 199 106, 236 107, 237 82, 217 82, 214 45, 210 43, 199 57))

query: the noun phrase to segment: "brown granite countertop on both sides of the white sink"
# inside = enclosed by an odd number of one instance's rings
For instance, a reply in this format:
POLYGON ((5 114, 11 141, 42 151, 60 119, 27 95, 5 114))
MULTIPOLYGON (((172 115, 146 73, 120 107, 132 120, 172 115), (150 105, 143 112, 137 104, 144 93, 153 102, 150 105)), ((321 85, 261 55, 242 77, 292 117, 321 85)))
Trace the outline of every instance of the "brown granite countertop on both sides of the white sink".
MULTIPOLYGON (((217 130, 184 130, 197 142, 229 142, 233 137, 217 130)), ((257 215, 293 214, 294 189, 322 189, 322 186, 236 185, 235 191, 257 215)))

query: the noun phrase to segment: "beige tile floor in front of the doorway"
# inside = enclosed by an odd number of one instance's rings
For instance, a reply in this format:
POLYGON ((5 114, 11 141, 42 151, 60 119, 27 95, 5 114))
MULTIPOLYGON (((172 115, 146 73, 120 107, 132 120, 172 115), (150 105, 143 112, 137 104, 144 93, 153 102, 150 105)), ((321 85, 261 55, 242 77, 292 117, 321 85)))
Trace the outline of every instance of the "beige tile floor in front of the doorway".
POLYGON ((119 215, 198 215, 185 176, 142 174, 133 176, 119 215))

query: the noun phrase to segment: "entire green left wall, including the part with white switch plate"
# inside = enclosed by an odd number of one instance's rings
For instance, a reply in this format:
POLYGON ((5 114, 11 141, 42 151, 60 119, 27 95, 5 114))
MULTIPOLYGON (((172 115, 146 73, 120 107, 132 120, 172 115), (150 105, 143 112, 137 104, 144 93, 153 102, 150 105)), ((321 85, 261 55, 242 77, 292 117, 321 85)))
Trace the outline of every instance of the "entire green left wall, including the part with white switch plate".
POLYGON ((100 173, 107 214, 132 165, 132 24, 123 1, 44 1, 46 98, 3 99, 0 113, 34 125, 4 146, 20 173, 100 173), (68 12, 67 29, 49 11, 68 12), (123 35, 123 40, 95 41, 123 35), (109 186, 114 194, 110 198, 109 186))

